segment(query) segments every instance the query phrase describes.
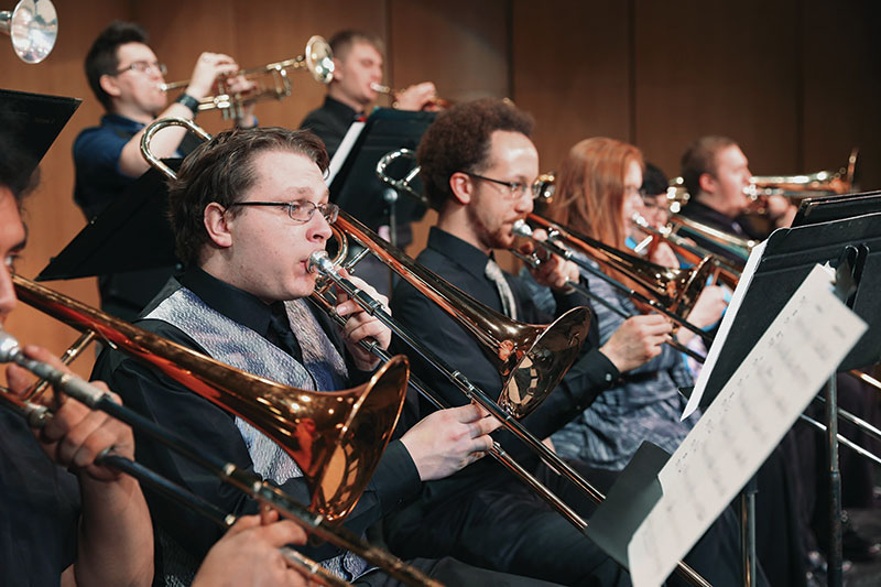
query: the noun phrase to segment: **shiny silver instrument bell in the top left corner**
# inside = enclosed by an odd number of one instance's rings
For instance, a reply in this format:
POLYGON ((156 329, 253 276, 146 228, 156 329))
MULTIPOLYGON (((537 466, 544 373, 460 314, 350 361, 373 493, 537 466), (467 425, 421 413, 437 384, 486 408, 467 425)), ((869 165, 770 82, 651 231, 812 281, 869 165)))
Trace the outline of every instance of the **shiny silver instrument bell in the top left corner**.
POLYGON ((55 46, 58 14, 50 0, 21 0, 0 11, 0 31, 12 40, 12 50, 24 63, 40 63, 55 46))

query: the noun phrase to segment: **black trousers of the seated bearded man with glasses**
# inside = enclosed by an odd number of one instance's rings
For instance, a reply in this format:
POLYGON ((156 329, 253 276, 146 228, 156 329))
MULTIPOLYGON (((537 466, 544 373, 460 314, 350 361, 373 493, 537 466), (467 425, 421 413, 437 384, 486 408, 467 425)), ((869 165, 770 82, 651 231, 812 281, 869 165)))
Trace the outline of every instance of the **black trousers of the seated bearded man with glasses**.
MULTIPOLYGON (((617 476, 614 471, 573 465, 603 491, 617 476)), ((492 485, 459 492, 443 504, 415 504, 410 511, 387 518, 385 540, 392 552, 403 558, 455 556, 478 567, 562 585, 630 585, 623 568, 534 491, 505 471, 496 472, 499 478, 492 485)), ((594 511, 588 498, 561 476, 544 466, 537 474, 576 511, 586 517, 594 511)), ((740 585, 739 535, 730 511, 698 542, 686 562, 716 587, 740 585)), ((685 585, 675 575, 671 584, 685 585)))

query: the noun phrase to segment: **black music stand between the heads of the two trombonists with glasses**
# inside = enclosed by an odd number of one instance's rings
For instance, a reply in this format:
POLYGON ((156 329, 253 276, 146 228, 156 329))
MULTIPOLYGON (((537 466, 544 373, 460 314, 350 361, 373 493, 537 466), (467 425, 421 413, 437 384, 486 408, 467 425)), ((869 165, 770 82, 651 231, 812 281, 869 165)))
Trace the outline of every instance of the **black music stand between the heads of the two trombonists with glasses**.
MULTIPOLYGON (((396 149, 415 150, 434 119, 434 112, 377 108, 368 117, 351 150, 337 153, 345 156, 345 162, 330 182, 330 202, 374 231, 388 225, 394 235, 395 227, 391 226, 390 216, 395 217, 395 221, 407 224, 421 219, 425 215, 422 204, 410 198, 389 202, 384 197, 388 186, 377 177, 377 163, 396 149)), ((391 173, 398 171, 395 165, 390 165, 391 173)))

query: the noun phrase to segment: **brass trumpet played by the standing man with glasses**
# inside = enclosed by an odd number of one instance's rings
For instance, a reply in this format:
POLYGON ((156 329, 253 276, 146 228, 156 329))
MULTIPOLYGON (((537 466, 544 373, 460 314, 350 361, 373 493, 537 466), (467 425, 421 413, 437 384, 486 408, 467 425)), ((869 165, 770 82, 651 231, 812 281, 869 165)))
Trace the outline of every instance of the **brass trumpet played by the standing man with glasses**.
MULTIPOLYGON (((243 108, 250 104, 265 100, 281 100, 291 95, 292 84, 289 77, 290 72, 306 68, 312 74, 313 79, 320 84, 329 84, 334 78, 334 54, 330 45, 324 37, 314 35, 306 43, 306 51, 303 55, 292 59, 270 63, 262 67, 242 69, 235 74, 219 76, 217 79, 217 94, 207 96, 199 100, 198 110, 219 109, 224 113, 224 120, 240 119, 243 117, 243 108), (227 80, 231 77, 243 76, 254 80, 257 87, 252 90, 231 94, 227 80), (263 81, 263 78, 269 81, 263 81)), ((184 88, 189 84, 188 79, 183 81, 172 81, 161 84, 162 91, 184 88)))

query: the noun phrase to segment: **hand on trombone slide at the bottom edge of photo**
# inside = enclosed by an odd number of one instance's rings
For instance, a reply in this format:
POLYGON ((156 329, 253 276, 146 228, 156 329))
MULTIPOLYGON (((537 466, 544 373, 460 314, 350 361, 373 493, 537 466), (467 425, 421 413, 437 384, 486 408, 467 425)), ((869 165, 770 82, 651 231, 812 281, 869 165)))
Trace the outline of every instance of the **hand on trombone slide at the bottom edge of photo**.
POLYGON ((199 567, 193 587, 259 587, 308 585, 308 577, 287 566, 279 548, 305 544, 306 532, 278 512, 244 515, 215 544, 199 567))

